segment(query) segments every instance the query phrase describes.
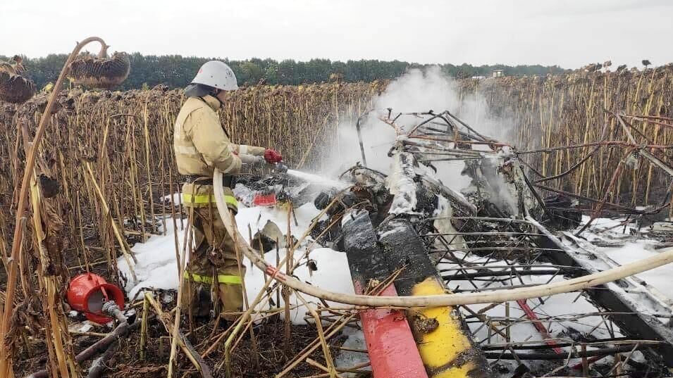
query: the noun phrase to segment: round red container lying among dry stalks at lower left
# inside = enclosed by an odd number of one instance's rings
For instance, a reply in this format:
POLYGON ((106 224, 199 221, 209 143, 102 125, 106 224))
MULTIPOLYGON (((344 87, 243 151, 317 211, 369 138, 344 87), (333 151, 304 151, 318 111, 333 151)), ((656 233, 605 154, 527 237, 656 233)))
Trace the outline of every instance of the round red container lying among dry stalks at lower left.
POLYGON ((100 308, 103 302, 115 301, 119 308, 124 308, 124 294, 117 286, 109 284, 103 277, 93 273, 78 275, 70 280, 68 287, 68 304, 70 308, 84 313, 88 320, 105 324, 112 320, 103 315, 100 308))

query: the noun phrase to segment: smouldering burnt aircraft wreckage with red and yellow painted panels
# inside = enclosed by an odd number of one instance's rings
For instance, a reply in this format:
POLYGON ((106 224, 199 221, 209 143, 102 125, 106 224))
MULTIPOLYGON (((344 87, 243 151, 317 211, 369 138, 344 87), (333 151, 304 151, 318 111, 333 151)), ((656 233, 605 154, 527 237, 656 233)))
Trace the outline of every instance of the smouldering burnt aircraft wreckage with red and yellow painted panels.
MULTIPOLYGON (((571 285, 618 266, 581 236, 586 227, 574 208, 581 196, 539 189, 516 149, 448 111, 366 113, 359 135, 366 117, 395 130, 389 174, 368 168, 360 137, 362 162, 341 175, 342 187, 273 175, 240 179, 236 192, 250 201, 255 191, 273 191, 295 206, 314 201, 323 217, 311 236, 347 254, 355 292, 402 298, 395 303, 405 305, 382 306, 298 289, 366 305, 359 318, 373 377, 658 377, 673 367, 672 303, 632 274, 548 295, 495 295, 571 285), (464 163, 471 181, 460 192, 438 178, 447 161, 464 163), (421 301, 444 294, 480 299, 421 301), (428 305, 406 305, 412 302, 428 305)), ((669 236, 666 227, 647 234, 628 221, 621 227, 632 235, 605 233, 655 244, 669 236)), ((273 237, 256 239, 273 244, 273 237)))

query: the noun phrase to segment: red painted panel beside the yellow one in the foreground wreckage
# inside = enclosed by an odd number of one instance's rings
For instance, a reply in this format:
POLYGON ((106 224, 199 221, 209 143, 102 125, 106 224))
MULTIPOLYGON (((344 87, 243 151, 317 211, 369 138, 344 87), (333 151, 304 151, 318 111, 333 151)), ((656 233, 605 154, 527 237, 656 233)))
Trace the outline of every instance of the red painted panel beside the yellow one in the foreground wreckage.
MULTIPOLYGON (((362 287, 354 282, 355 292, 362 287)), ((397 296, 389 285, 381 296, 397 296)), ((374 378, 427 378, 416 341, 405 313, 399 310, 373 309, 360 313, 364 339, 374 378)))

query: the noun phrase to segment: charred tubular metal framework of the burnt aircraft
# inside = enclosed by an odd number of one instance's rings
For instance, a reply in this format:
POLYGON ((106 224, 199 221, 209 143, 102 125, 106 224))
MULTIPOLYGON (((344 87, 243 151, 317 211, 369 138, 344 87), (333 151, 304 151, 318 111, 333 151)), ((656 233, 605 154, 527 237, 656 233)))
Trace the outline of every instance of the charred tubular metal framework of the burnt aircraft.
MULTIPOLYGON (((362 134, 360 133, 360 123, 365 116, 373 116, 373 111, 363 114, 357 122, 363 161, 366 157, 362 144, 362 134)), ((497 161, 505 162, 504 165, 510 164, 507 175, 514 177, 510 184, 515 186, 515 188, 513 187, 514 191, 518 194, 518 208, 514 211, 519 213, 503 216, 505 214, 497 211, 489 213, 487 210, 486 215, 484 215, 483 208, 477 208, 473 202, 467 201, 462 195, 451 191, 440 182, 421 176, 421 181, 433 187, 438 194, 450 199, 453 215, 456 216, 432 218, 428 217, 427 214, 419 217, 419 214, 400 215, 397 213, 391 215, 378 227, 379 242, 385 251, 385 260, 388 261, 389 271, 402 266, 405 267, 400 277, 395 280, 395 286, 400 295, 411 294, 409 288, 417 284, 420 278, 429 275, 438 275, 446 282, 447 287, 452 280, 467 281, 471 287, 450 289, 452 291, 474 292, 490 290, 492 289, 489 287, 491 284, 505 280, 510 282, 517 280, 521 283, 520 285, 507 287, 528 286, 522 279, 524 275, 550 276, 548 282, 551 282, 557 277, 579 277, 596 272, 596 265, 587 263, 586 260, 581 258, 584 254, 586 259, 586 253, 584 253, 586 251, 580 253, 575 248, 563 244, 545 226, 534 219, 548 214, 548 210, 567 210, 564 208, 545 208, 545 204, 535 187, 543 190, 561 191, 541 185, 540 182, 546 181, 544 177, 536 182, 529 181, 518 165, 519 163, 526 165, 526 163, 518 159, 519 153, 516 150, 505 149, 509 147, 508 144, 479 134, 449 111, 441 113, 433 113, 432 111, 426 113, 393 113, 391 109, 388 109, 387 115, 381 115, 378 119, 393 127, 397 134, 395 144, 388 153, 389 156, 412 156, 416 162, 423 163, 431 168, 433 162, 437 161, 464 160, 466 165, 469 165, 474 160, 497 159, 497 161), (403 115, 417 118, 407 130, 400 126, 399 119, 403 115), (476 150, 472 149, 473 146, 483 146, 486 149, 482 147, 476 150), (503 149, 506 151, 502 151, 503 149), (512 218, 507 218, 508 216, 512 216, 512 218), (391 231, 391 228, 386 226, 387 222, 390 225, 394 222, 409 222, 409 220, 412 220, 416 238, 420 237, 419 240, 422 241, 423 245, 420 248, 416 248, 410 235, 405 234, 406 231, 386 232, 391 231), (437 220, 450 222, 455 230, 438 231, 433 226, 433 222, 437 220), (459 241, 458 244, 462 243, 462 246, 457 246, 455 243, 457 240, 459 241), (400 243, 403 243, 405 248, 397 248, 400 243), (416 253, 416 250, 425 251, 426 256, 429 252, 436 263, 450 263, 457 265, 457 267, 439 268, 434 269, 434 273, 430 272, 433 269, 427 269, 426 261, 419 260, 419 253, 416 253), (486 263, 468 263, 465 257, 469 255, 481 256, 486 263), (488 265, 493 261, 502 262, 506 266, 488 265), (549 263, 539 263, 543 261, 549 263), (479 282, 485 284, 478 284, 479 282)), ((633 144, 633 141, 631 141, 631 144, 633 144)), ((529 152, 536 151, 526 151, 524 153, 529 152)), ((564 174, 566 173, 564 172, 564 174)), ((557 177, 550 177, 549 179, 552 178, 557 177)), ((578 197, 585 202, 598 203, 593 209, 592 220, 599 213, 611 213, 615 209, 622 210, 624 213, 635 214, 647 214, 648 211, 653 211, 619 206, 607 203, 605 199, 590 199, 567 192, 562 192, 562 194, 578 197)), ((572 234, 568 234, 567 237, 572 240, 572 234)), ((579 250, 581 247, 577 249, 579 250)), ((600 256, 594 257, 600 258, 600 256)), ((605 269, 609 267, 607 266, 605 269)), ((502 287, 498 287, 498 289, 502 289, 502 287)), ((512 359, 519 363, 526 360, 566 360, 566 367, 576 369, 578 365, 568 365, 569 359, 582 358, 579 368, 585 370, 586 373, 588 364, 600 360, 606 355, 626 353, 628 360, 634 351, 643 351, 650 353, 655 360, 657 355, 661 355, 662 362, 668 367, 673 367, 673 330, 665 325, 665 322, 673 317, 673 308, 669 303, 662 301, 661 298, 650 292, 641 280, 636 277, 629 277, 619 280, 619 282, 581 291, 578 295, 584 295, 597 308, 597 312, 576 315, 576 317, 600 317, 602 324, 605 325, 605 329, 609 331, 612 337, 592 342, 552 338, 546 333, 543 323, 554 322, 562 316, 538 318, 533 313, 535 308, 531 309, 526 301, 517 301, 521 310, 526 313, 526 319, 523 317, 516 319, 509 315, 501 319, 488 318, 483 310, 475 311, 469 306, 462 306, 462 310, 464 310, 462 318, 464 322, 481 323, 481 327, 488 328, 489 335, 491 330, 502 336, 507 334, 507 343, 505 344, 491 344, 490 336, 488 337, 488 343, 486 343, 486 339, 478 342, 482 351, 489 351, 484 355, 496 360, 512 359), (639 301, 653 303, 653 306, 648 308, 651 311, 646 313, 642 308, 638 308, 639 301), (538 332, 543 335, 543 341, 510 342, 509 328, 517 322, 532 323, 538 329, 538 332), (505 324, 505 327, 502 327, 503 324, 505 324), (619 332, 624 337, 615 335, 613 324, 619 327, 619 332), (576 349, 579 346, 581 346, 581 351, 576 349), (586 349, 587 346, 594 349, 586 349), (562 353, 560 349, 562 347, 569 347, 570 351, 562 353), (552 351, 553 353, 534 352, 538 350, 552 351), (533 351, 533 353, 521 353, 520 351, 533 351)), ((543 298, 538 298, 539 303, 543 303, 543 301, 543 298)), ((529 303, 533 302, 534 300, 529 300, 529 303)), ((494 303, 491 307, 495 305, 498 304, 494 303)), ((509 308, 510 303, 505 303, 505 305, 509 308)), ((570 318, 570 315, 572 314, 567 315, 568 318, 570 318)), ((591 334, 591 332, 589 333, 591 334)), ((560 368, 558 367, 554 371, 558 371, 560 368)))

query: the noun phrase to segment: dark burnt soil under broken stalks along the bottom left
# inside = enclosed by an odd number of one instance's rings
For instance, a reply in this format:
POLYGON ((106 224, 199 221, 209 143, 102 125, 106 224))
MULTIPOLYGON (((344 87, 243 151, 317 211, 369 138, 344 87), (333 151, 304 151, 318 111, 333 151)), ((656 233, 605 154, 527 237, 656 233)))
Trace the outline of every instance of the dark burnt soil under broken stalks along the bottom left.
MULTIPOLYGON (((139 313, 140 316, 140 313, 139 313)), ((138 319, 140 321, 140 318, 138 319)), ((214 321, 208 322, 202 326, 196 326, 195 331, 190 334, 188 326, 182 327, 183 333, 190 339, 199 353, 204 353, 212 345, 212 340, 224 331, 225 328, 218 327, 214 332, 214 321)), ((271 318, 261 322, 254 327, 255 339, 257 340, 257 351, 254 353, 249 332, 240 341, 232 354, 231 371, 233 377, 275 377, 278 372, 283 370, 285 363, 295 357, 302 348, 313 341, 317 334, 314 327, 294 325, 291 327, 290 344, 288 353, 284 353, 284 322, 278 317, 271 318)), ((105 332, 101 329, 91 329, 91 332, 105 332)), ((98 341, 101 336, 75 336, 73 335, 73 345, 75 353, 79 353, 88 346, 98 341)), ((224 341, 224 340, 223 340, 224 341)), ((226 377, 226 367, 224 365, 224 342, 221 341, 216 351, 208 355, 204 360, 210 367, 214 377, 226 377)), ((335 345, 342 344, 342 339, 333 339, 335 345)), ((163 325, 151 316, 148 319, 148 342, 147 351, 144 360, 140 359, 140 327, 135 327, 130 331, 126 339, 121 340, 121 348, 106 363, 108 369, 105 370, 102 377, 116 378, 147 378, 147 377, 166 377, 166 368, 168 357, 171 352, 171 339, 163 325)), ((334 353, 334 352, 333 352, 334 353)), ((98 355, 96 355, 97 357, 98 355)), ((95 357, 94 357, 95 358, 95 357)), ((311 358, 324 364, 321 349, 318 348, 311 358)), ((19 346, 18 355, 14 362, 14 372, 16 377, 25 377, 32 372, 44 369, 47 363, 47 351, 44 342, 35 341, 27 348, 26 345, 19 346)), ((82 369, 87 369, 91 361, 82 363, 82 369)), ((84 371, 86 373, 86 371, 84 371)), ((306 363, 301 363, 286 377, 307 377, 322 372, 306 363)), ((82 374, 85 375, 85 374, 82 374)), ((185 354, 178 348, 178 372, 175 377, 201 377, 193 365, 185 357, 185 354)))

